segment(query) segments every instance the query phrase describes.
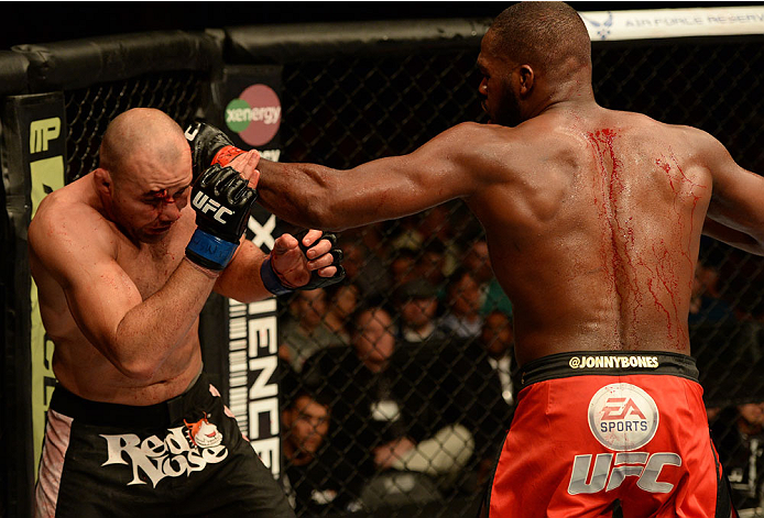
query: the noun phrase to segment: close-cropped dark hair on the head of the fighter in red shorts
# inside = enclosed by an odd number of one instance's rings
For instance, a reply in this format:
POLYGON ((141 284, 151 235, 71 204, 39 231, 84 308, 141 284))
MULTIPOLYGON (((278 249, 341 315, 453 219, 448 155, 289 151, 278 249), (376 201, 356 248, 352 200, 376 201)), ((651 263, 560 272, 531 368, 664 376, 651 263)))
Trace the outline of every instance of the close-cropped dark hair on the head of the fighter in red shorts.
POLYGON ((496 54, 538 71, 591 66, 591 41, 578 12, 565 2, 520 2, 491 24, 496 54))

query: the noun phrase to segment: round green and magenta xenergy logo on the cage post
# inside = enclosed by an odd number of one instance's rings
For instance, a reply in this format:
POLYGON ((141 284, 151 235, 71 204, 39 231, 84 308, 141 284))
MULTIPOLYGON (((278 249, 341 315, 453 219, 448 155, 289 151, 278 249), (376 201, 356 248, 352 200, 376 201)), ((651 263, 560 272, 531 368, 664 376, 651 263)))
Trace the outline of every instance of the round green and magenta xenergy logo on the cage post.
POLYGON ((252 146, 268 144, 281 125, 281 101, 266 85, 252 85, 226 107, 226 125, 252 146))

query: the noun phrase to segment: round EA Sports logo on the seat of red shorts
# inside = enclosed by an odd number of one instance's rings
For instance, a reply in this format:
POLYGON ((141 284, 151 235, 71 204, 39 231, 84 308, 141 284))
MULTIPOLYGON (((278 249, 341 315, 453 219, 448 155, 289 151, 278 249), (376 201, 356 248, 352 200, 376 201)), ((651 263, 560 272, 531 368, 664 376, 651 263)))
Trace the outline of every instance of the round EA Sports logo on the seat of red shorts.
POLYGON ((610 450, 636 450, 655 437, 658 407, 637 386, 629 383, 607 385, 589 403, 589 429, 610 450))

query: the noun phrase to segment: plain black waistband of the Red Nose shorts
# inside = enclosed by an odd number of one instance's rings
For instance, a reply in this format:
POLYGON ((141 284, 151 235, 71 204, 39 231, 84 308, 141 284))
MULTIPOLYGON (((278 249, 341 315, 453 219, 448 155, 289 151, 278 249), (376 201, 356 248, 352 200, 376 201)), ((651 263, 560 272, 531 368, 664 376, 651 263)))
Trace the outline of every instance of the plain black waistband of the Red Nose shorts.
POLYGON ((51 397, 51 409, 87 425, 161 428, 178 422, 187 416, 187 412, 198 408, 201 401, 212 397, 209 392, 209 378, 201 373, 185 393, 166 401, 148 406, 91 401, 57 385, 51 397))

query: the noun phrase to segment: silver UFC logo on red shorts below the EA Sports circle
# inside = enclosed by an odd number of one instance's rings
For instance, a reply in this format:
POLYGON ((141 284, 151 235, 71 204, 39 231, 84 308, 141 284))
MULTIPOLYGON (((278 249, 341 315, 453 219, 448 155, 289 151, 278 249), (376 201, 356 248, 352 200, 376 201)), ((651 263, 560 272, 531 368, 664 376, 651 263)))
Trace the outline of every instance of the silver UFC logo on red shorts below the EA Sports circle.
POLYGON ((576 455, 568 493, 570 495, 599 493, 616 489, 627 476, 637 477, 636 485, 648 493, 669 493, 674 484, 658 482, 666 466, 680 466, 681 458, 676 453, 620 452, 600 453, 591 467, 592 455, 576 455), (615 462, 613 462, 615 456, 615 462), (589 478, 591 472, 591 477, 589 478), (589 483, 587 483, 589 480, 589 483))

